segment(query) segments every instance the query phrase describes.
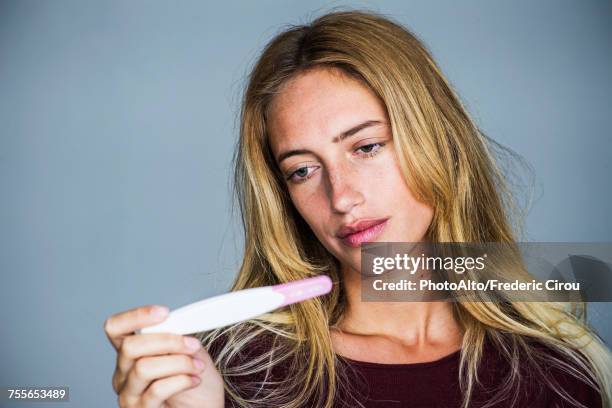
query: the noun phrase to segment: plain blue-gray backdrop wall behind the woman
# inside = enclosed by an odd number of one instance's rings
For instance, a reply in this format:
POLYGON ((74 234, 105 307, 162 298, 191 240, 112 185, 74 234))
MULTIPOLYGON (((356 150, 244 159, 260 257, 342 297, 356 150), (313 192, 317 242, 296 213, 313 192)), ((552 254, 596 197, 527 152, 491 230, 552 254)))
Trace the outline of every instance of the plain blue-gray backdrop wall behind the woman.
MULTIPOLYGON (((412 29, 533 165, 530 240, 612 241, 610 2, 2 1, 0 385, 114 406, 106 317, 228 288, 248 67, 284 24, 343 5, 412 29)), ((592 306, 610 344, 610 305, 592 306)))

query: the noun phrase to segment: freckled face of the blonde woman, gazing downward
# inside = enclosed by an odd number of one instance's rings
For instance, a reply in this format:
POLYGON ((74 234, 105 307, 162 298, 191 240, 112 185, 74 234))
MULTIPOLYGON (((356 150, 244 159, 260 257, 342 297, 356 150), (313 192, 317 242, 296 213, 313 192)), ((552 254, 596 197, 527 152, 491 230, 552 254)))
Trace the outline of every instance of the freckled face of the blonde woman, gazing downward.
POLYGON ((360 82, 308 71, 275 96, 267 126, 293 204, 344 268, 359 273, 361 242, 424 238, 433 210, 406 185, 384 105, 360 82))

